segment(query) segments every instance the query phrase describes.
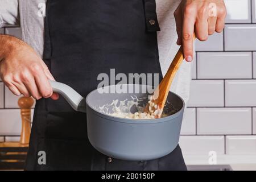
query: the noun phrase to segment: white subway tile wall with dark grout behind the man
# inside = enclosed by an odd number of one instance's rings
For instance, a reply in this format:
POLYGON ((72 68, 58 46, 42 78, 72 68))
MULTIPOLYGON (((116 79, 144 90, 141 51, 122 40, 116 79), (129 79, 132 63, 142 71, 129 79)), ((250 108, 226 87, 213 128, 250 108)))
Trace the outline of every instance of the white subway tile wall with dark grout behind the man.
MULTIPOLYGON (((255 154, 256 13, 255 0, 226 0, 224 33, 196 41, 189 108, 184 113, 183 154, 255 154)), ((0 29, 20 38, 18 27, 0 29)), ((20 110, 0 82, 0 141, 19 140, 20 110), (4 98, 5 97, 5 98, 4 98), (6 135, 6 137, 2 137, 6 135)))

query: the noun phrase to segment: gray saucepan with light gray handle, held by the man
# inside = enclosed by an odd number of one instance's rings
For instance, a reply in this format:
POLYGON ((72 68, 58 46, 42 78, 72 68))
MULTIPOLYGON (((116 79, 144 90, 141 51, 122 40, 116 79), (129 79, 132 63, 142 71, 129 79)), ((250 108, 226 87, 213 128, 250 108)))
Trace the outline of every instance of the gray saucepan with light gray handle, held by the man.
MULTIPOLYGON (((98 108, 113 100, 129 100, 134 96, 142 98, 148 94, 100 93, 96 89, 84 98, 68 85, 56 81, 50 83, 53 92, 61 94, 73 109, 86 113, 89 141, 102 154, 122 160, 151 160, 169 154, 179 142, 184 101, 175 93, 170 92, 167 101, 176 113, 159 119, 126 119, 112 117, 98 108)), ((114 86, 106 86, 105 89, 113 90, 114 86)), ((122 86, 147 88, 146 85, 122 86)))

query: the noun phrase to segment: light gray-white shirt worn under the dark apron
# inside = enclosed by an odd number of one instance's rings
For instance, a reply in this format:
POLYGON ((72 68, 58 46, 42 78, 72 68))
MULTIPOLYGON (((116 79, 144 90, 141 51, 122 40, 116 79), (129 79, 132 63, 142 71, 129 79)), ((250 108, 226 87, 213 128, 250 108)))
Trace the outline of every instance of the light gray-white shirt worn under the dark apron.
MULTIPOLYGON (((156 0, 156 13, 161 31, 158 32, 159 58, 163 75, 166 74, 179 46, 174 11, 181 0, 156 0)), ((43 55, 44 6, 46 0, 0 0, 0 27, 20 24, 22 39, 43 55), (19 22, 20 21, 20 22, 19 22)), ((185 102, 189 98, 192 63, 183 61, 176 73, 171 90, 179 94, 185 102)))

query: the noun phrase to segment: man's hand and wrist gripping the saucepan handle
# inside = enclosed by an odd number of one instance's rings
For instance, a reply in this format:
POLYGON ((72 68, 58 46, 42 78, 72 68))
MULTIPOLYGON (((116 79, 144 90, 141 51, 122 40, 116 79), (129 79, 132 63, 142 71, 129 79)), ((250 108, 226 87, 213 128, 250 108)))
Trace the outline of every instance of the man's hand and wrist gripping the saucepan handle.
POLYGON ((49 80, 54 80, 47 65, 34 49, 9 35, 0 35, 0 76, 5 85, 16 96, 59 98, 52 93, 49 80))

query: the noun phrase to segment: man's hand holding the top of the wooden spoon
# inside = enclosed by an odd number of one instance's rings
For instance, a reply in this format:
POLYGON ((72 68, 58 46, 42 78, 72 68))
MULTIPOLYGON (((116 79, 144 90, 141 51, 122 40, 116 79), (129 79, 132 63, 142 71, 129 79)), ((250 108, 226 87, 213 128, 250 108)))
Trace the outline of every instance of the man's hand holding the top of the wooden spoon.
POLYGON ((177 44, 183 45, 185 60, 193 59, 193 32, 205 41, 214 31, 225 26, 226 7, 223 0, 183 0, 174 12, 177 27, 177 44), (194 30, 195 29, 195 30, 194 30))

